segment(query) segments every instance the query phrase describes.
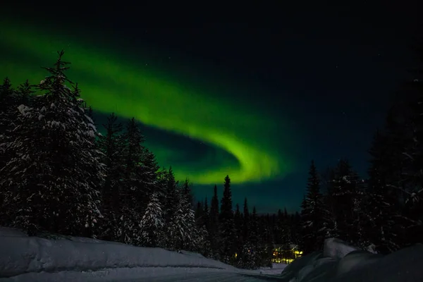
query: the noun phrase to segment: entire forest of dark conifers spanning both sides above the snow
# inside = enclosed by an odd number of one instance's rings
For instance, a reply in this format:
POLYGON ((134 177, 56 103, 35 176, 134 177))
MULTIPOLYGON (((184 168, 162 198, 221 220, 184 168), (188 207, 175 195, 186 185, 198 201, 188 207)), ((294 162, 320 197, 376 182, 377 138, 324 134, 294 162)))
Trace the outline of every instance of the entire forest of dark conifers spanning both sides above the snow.
POLYGON ((312 161, 301 212, 259 214, 247 199, 233 203, 230 176, 212 199, 195 200, 193 183, 145 147, 135 118, 98 125, 63 54, 39 84, 0 86, 1 226, 199 252, 245 269, 271 266, 276 246, 308 254, 326 238, 382 254, 423 243, 422 68, 376 130, 367 177, 347 159, 321 172, 312 161))

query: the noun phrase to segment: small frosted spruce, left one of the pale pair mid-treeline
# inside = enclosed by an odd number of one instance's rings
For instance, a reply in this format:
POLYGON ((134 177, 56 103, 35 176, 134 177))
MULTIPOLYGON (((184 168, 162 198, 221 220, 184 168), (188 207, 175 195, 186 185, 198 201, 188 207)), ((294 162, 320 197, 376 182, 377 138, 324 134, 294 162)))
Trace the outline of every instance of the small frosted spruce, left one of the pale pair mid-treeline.
POLYGON ((145 247, 163 245, 164 219, 157 193, 153 193, 141 221, 141 244, 145 247))

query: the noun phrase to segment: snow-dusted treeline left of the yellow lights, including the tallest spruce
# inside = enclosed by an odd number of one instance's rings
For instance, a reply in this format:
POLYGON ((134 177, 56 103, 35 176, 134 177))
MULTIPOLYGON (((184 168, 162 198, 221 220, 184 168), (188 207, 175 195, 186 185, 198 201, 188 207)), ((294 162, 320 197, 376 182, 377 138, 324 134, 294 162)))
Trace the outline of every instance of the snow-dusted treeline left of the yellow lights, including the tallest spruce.
POLYGON ((1 226, 200 252, 251 269, 271 264, 274 243, 298 238, 299 214, 259 216, 247 199, 234 211, 229 176, 194 207, 191 183, 159 167, 134 118, 111 114, 97 132, 62 56, 39 84, 14 88, 6 78, 0 87, 1 226))

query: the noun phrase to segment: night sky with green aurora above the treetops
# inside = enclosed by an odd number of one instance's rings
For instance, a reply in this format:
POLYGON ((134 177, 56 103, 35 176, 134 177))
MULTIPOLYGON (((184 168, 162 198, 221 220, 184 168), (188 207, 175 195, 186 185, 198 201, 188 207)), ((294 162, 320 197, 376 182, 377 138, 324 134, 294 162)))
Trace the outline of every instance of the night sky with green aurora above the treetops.
POLYGON ((372 135, 414 59, 415 4, 267 7, 191 23, 123 4, 7 4, 0 76, 37 83, 64 49, 97 123, 112 111, 135 117, 196 197, 215 183, 221 194, 228 174, 235 203, 294 212, 312 159, 323 170, 345 157, 366 176, 372 135))

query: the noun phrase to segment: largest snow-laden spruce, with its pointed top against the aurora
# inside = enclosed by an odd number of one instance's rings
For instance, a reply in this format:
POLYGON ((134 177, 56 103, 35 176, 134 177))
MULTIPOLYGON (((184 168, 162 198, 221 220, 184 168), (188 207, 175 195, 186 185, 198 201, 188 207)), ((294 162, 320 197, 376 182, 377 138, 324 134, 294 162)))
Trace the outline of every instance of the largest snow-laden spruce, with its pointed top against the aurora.
POLYGON ((4 206, 13 225, 28 234, 38 230, 91 235, 101 216, 97 188, 104 180, 94 138, 96 128, 85 110, 78 85, 66 83, 63 51, 37 89, 34 106, 16 109, 15 140, 6 144, 13 159, 1 170, 8 190, 4 206))

